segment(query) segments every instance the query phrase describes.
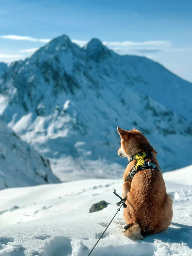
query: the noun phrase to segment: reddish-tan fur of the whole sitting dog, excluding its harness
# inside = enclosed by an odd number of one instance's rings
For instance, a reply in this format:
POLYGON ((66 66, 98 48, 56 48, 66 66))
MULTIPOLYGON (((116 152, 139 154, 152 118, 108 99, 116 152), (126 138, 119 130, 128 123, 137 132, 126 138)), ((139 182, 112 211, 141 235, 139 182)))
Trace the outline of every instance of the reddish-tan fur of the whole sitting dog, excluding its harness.
MULTIPOLYGON (((129 160, 140 151, 152 152, 154 156, 146 161, 156 164, 160 170, 156 159, 157 152, 140 131, 125 131, 120 127, 117 127, 117 130, 121 137, 119 156, 128 157, 129 160)), ((166 193, 162 173, 157 170, 141 170, 135 174, 132 181, 129 179, 125 182, 135 164, 136 160, 131 161, 123 175, 123 198, 127 197, 124 219, 128 224, 123 232, 129 238, 140 240, 146 235, 156 234, 168 228, 173 217, 173 202, 166 193)))

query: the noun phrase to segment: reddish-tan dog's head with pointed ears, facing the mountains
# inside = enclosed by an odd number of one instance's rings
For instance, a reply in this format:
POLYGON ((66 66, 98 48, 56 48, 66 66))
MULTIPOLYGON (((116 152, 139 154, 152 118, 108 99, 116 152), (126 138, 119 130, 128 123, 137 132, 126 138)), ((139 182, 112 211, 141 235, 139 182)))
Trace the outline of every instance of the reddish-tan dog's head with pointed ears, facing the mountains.
POLYGON ((140 131, 136 129, 125 131, 120 127, 117 127, 117 130, 121 137, 121 147, 118 150, 120 157, 128 157, 130 159, 131 156, 134 156, 140 151, 152 152, 154 156, 157 155, 157 152, 140 131))

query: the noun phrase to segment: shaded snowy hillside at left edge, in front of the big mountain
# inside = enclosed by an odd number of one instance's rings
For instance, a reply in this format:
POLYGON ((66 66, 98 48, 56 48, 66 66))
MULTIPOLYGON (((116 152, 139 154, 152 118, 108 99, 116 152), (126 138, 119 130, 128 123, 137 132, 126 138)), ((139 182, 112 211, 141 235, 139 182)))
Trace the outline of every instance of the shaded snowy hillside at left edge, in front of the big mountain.
POLYGON ((0 189, 51 182, 59 181, 50 169, 49 160, 0 122, 0 189))

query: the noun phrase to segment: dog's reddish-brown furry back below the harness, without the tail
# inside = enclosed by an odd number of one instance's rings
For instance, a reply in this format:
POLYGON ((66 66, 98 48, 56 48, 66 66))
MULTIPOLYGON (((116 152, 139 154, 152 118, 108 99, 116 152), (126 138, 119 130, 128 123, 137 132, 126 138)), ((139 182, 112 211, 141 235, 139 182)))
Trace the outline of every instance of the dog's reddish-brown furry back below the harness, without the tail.
MULTIPOLYGON (((164 231, 171 224, 172 200, 157 170, 142 170, 134 176, 127 205, 124 210, 125 220, 127 223, 139 224, 142 236, 164 231)), ((127 229, 125 235, 129 232, 127 229)))

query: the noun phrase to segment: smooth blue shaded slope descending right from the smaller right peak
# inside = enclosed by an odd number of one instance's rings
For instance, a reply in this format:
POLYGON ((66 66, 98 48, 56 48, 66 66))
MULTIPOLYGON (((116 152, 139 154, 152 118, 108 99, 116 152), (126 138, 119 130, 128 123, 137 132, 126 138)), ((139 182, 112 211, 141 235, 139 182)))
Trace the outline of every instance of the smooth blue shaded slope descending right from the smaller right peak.
POLYGON ((147 94, 168 109, 192 121, 192 84, 146 57, 118 55, 92 39, 85 47, 88 63, 97 72, 122 83, 135 92, 147 94), (175 104, 175 103, 179 104, 175 104))

